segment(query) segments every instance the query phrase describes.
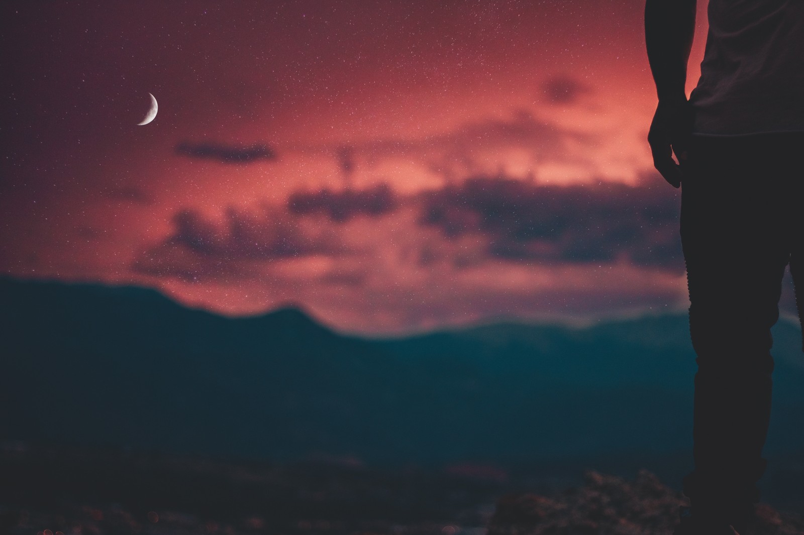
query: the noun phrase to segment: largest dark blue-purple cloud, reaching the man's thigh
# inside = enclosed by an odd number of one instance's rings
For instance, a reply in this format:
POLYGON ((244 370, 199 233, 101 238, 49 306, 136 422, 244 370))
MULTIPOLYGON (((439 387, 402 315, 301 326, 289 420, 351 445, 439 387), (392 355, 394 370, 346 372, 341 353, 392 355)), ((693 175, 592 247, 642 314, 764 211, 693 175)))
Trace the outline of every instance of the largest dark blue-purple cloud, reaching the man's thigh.
POLYGON ((424 194, 418 223, 447 239, 481 235, 491 257, 683 271, 679 198, 650 186, 544 186, 476 176, 424 194))

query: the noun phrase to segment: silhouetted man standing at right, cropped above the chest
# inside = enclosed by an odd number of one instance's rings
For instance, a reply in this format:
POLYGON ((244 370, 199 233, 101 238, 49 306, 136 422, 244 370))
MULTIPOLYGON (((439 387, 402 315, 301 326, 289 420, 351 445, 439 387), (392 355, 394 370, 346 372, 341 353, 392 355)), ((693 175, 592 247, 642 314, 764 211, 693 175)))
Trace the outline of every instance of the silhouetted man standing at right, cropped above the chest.
POLYGON ((691 507, 676 535, 749 533, 771 401, 785 267, 804 312, 804 0, 710 0, 687 100, 695 0, 647 0, 658 93, 648 142, 682 188, 681 239, 697 355, 691 507), (678 163, 673 161, 675 153, 678 163))

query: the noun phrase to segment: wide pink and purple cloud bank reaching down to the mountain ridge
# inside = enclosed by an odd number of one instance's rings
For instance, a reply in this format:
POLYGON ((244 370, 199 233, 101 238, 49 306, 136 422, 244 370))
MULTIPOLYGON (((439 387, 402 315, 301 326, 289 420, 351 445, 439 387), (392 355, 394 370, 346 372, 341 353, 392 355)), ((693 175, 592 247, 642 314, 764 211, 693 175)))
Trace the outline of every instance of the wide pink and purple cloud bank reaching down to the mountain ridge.
POLYGON ((297 192, 220 217, 178 210, 133 269, 211 309, 255 313, 293 299, 365 332, 663 308, 686 296, 679 199, 658 180, 568 187, 477 175, 351 194, 297 192), (383 191, 393 202, 376 210, 358 200, 383 191))

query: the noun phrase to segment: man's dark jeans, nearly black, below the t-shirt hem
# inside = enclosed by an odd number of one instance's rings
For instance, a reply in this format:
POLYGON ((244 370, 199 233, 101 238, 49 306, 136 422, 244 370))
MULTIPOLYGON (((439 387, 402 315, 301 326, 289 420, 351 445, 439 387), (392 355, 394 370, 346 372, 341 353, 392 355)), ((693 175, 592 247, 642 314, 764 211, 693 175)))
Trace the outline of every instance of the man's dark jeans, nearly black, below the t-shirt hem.
POLYGON ((693 508, 753 508, 771 405, 771 326, 785 267, 804 298, 804 133, 694 137, 681 239, 697 355, 693 508))

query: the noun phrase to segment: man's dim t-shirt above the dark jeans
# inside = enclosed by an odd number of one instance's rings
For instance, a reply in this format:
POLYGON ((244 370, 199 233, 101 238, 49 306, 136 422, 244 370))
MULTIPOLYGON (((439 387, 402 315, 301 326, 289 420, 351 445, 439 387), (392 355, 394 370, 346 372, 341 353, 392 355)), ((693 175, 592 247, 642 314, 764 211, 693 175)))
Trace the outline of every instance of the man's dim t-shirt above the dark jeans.
POLYGON ((697 134, 804 132, 804 0, 710 0, 697 134))

